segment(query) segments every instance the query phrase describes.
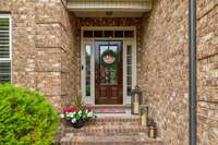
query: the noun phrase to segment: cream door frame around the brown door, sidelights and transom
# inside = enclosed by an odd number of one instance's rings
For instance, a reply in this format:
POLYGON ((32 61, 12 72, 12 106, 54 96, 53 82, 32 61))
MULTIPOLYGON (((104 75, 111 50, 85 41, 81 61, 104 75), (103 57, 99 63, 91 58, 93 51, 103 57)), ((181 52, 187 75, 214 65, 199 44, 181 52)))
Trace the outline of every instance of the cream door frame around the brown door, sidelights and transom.
POLYGON ((87 27, 84 26, 81 28, 81 65, 83 70, 81 70, 81 88, 82 96, 85 104, 95 105, 95 40, 122 40, 122 50, 123 50, 123 105, 130 104, 130 96, 126 95, 126 47, 128 45, 132 46, 132 87, 136 85, 137 76, 136 76, 136 27, 87 27), (134 31, 133 38, 84 38, 84 31, 134 31), (85 71, 85 46, 90 46, 90 96, 86 96, 86 71, 85 71))

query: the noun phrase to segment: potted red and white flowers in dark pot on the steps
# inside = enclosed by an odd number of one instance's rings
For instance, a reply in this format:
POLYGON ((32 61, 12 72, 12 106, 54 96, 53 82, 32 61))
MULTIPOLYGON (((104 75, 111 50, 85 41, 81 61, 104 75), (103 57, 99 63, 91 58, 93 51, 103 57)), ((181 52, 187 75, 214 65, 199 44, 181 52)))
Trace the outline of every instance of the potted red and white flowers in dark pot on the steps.
POLYGON ((75 97, 73 107, 63 108, 61 118, 71 123, 73 128, 82 128, 89 119, 97 118, 90 107, 84 106, 82 97, 75 97))

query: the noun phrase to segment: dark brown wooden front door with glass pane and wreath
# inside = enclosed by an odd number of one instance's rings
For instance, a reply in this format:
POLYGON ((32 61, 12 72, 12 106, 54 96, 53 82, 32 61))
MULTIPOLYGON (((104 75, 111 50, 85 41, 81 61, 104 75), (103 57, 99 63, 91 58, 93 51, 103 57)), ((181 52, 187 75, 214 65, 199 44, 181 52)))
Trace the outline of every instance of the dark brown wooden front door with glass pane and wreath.
POLYGON ((122 41, 95 41, 95 104, 122 104, 122 41))

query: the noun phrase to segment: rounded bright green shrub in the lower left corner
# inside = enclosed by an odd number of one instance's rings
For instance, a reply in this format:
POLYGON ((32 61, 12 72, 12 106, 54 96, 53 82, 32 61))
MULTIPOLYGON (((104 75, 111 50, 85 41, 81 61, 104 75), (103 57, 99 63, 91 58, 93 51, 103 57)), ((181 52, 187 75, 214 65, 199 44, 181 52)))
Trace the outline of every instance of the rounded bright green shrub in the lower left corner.
POLYGON ((0 145, 52 144, 58 118, 45 96, 0 85, 0 145))

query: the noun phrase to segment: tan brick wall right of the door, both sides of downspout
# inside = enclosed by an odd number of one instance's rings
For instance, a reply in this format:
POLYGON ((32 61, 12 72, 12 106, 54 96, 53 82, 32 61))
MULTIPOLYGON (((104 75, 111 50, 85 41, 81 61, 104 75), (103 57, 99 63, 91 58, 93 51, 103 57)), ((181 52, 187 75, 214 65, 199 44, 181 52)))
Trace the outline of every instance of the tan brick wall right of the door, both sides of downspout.
MULTIPOLYGON (((218 8, 199 0, 197 10, 198 144, 218 144, 218 8)), ((143 80, 150 116, 166 144, 189 142, 187 0, 157 0, 143 17, 143 80)))

